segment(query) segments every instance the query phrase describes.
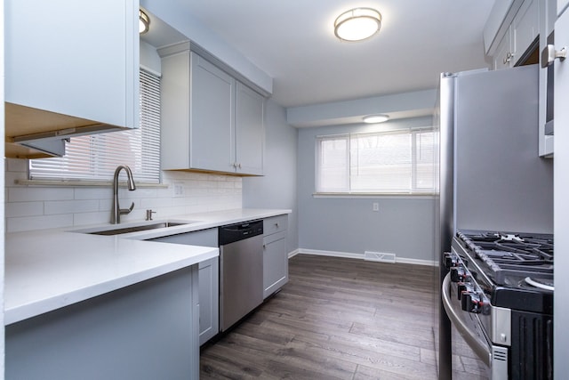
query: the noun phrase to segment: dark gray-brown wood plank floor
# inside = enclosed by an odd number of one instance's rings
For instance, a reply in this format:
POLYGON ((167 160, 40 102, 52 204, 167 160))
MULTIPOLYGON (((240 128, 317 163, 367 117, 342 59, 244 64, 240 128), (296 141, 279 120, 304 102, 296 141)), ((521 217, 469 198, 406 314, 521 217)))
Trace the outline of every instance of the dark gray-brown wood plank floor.
MULTIPOLYGON (((289 283, 201 353, 201 379, 437 379, 435 268, 296 255, 289 283)), ((459 379, 478 379, 468 346, 459 379)))

